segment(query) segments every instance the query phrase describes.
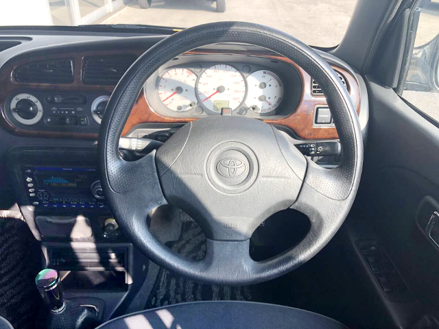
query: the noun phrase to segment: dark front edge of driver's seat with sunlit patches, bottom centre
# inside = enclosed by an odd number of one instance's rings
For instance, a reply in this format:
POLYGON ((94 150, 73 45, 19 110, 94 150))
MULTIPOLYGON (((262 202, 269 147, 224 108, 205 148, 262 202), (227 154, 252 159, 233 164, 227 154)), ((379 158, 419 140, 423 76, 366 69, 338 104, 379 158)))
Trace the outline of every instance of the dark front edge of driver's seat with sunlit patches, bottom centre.
POLYGON ((307 310, 255 302, 191 302, 143 310, 106 322, 98 329, 346 329, 307 310))

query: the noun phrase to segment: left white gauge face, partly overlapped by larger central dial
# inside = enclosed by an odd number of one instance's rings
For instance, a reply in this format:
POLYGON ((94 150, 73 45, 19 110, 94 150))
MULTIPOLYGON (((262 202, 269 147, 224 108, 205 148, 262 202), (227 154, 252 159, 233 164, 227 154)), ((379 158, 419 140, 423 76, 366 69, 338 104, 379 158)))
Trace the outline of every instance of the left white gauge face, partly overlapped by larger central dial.
POLYGON ((158 82, 158 98, 176 112, 185 112, 195 108, 195 81, 197 77, 188 69, 175 68, 167 71, 158 82))

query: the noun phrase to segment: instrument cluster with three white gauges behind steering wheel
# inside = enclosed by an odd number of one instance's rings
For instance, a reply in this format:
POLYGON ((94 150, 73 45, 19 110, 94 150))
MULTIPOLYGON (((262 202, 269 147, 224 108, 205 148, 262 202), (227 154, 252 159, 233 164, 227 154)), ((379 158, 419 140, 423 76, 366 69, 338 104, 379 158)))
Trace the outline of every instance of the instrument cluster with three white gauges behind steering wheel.
POLYGON ((244 56, 241 61, 219 56, 215 62, 206 61, 208 55, 187 57, 200 60, 162 67, 145 83, 145 97, 154 112, 202 117, 226 108, 233 115, 278 117, 290 114, 300 100, 302 84, 294 66, 250 56, 245 62, 244 56))

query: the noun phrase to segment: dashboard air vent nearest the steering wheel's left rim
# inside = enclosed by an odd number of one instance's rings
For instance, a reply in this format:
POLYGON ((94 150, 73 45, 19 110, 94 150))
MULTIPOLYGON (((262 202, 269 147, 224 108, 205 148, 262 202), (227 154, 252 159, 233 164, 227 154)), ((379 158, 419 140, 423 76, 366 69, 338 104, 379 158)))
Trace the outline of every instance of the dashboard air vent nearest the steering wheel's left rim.
POLYGON ((136 59, 134 54, 87 56, 82 65, 82 82, 115 85, 136 59))

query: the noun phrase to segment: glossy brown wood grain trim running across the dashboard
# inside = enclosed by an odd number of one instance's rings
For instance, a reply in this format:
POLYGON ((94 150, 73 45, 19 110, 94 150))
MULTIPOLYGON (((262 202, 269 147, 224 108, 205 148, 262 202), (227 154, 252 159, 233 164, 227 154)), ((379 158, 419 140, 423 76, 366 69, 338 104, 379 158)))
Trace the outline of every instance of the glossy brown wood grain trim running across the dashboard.
MULTIPOLYGON (((0 71, 0 110, 1 117, 0 121, 3 127, 8 129, 10 132, 14 134, 19 134, 22 136, 38 136, 38 137, 47 137, 47 138, 82 138, 82 139, 97 139, 97 134, 84 134, 84 133, 73 133, 73 132, 48 132, 48 131, 35 131, 35 130, 23 130, 19 127, 16 127, 5 117, 5 99, 14 93, 14 90, 18 88, 29 88, 32 90, 53 90, 55 89, 57 92, 65 92, 65 91, 75 91, 75 92, 90 92, 90 91, 99 91, 102 93, 112 93, 114 86, 95 86, 95 85, 87 85, 83 84, 81 81, 81 70, 82 70, 82 62, 85 56, 94 56, 94 55, 110 55, 110 54, 118 54, 118 53, 134 53, 137 56, 140 56, 143 53, 143 50, 132 49, 132 50, 123 50, 123 51, 87 51, 87 52, 78 52, 78 53, 59 53, 51 56, 34 56, 32 58, 23 58, 19 60, 12 60, 6 63, 1 71, 0 71), (74 80, 71 84, 57 84, 54 86, 53 84, 27 84, 27 83, 19 83, 14 81, 12 76, 12 72, 14 69, 22 64, 27 64, 29 62, 34 62, 37 60, 47 60, 57 59, 57 58, 72 58, 74 61, 74 80)), ((323 96, 315 96, 311 95, 311 77, 310 75, 301 69, 296 63, 288 60, 283 56, 274 55, 272 53, 264 53, 258 51, 218 51, 218 50, 210 50, 210 49, 198 49, 195 51, 189 51, 185 53, 185 56, 191 56, 193 54, 214 54, 214 53, 223 53, 223 54, 232 54, 232 55, 245 55, 245 56, 257 56, 263 58, 270 58, 272 60, 278 60, 280 62, 286 62, 288 64, 296 67, 300 76, 302 77, 302 98, 300 99, 300 103, 298 107, 294 110, 292 109, 292 113, 287 117, 283 117, 280 119, 264 119, 267 123, 272 123, 276 125, 284 125, 285 127, 289 127, 289 129, 294 130, 296 135, 303 139, 335 139, 338 137, 337 130, 335 127, 314 127, 313 126, 313 112, 316 106, 326 106, 327 102, 323 96)), ((359 86, 355 77, 348 73, 344 69, 340 67, 333 66, 335 71, 341 73, 349 87, 349 94, 353 100, 354 106, 359 113, 360 108, 360 92, 359 86)), ((126 122, 125 127, 123 128, 122 135, 127 134, 135 125, 139 123, 187 123, 189 121, 196 120, 196 118, 175 118, 175 117, 163 117, 160 114, 157 114, 150 108, 148 105, 144 93, 140 93, 137 102, 134 104, 130 116, 126 122)))

